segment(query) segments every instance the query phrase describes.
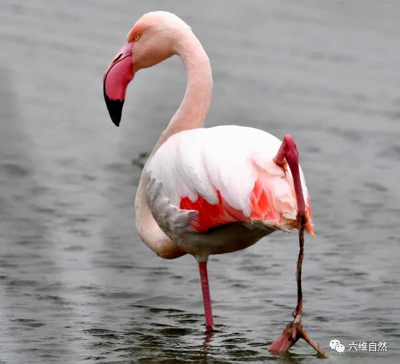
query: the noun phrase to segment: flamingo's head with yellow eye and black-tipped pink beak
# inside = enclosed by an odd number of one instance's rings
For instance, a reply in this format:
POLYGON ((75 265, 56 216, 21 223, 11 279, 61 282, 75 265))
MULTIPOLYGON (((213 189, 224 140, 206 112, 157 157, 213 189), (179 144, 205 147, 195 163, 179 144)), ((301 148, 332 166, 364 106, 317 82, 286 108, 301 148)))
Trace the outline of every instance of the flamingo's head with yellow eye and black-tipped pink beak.
POLYGON ((135 72, 176 54, 174 45, 184 32, 191 32, 190 27, 178 16, 164 11, 144 14, 128 32, 126 44, 108 65, 103 77, 104 99, 117 127, 126 88, 135 72))

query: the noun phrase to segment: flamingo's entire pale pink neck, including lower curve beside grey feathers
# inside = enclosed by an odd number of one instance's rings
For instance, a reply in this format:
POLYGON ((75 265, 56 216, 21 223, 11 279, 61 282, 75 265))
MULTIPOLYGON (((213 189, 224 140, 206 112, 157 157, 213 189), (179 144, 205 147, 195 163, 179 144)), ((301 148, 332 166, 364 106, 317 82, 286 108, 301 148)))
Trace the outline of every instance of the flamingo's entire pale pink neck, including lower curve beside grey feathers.
MULTIPOLYGON (((201 128, 210 108, 212 93, 212 75, 210 61, 198 39, 191 31, 176 33, 174 54, 182 59, 188 72, 188 84, 185 96, 178 111, 172 117, 168 127, 148 158, 144 171, 157 149, 171 136, 183 130, 201 128)), ((147 173, 142 173, 136 193, 136 228, 142 240, 158 255, 176 258, 186 254, 176 243, 162 232, 154 220, 146 199, 147 173)))

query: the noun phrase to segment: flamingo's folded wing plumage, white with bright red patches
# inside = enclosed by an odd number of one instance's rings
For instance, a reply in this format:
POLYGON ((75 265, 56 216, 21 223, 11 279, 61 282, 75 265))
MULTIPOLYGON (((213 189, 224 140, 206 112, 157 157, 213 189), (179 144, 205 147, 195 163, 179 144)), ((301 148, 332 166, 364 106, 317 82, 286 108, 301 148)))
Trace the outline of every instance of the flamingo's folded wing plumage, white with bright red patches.
MULTIPOLYGON (((289 167, 273 161, 281 144, 269 133, 234 125, 172 135, 144 171, 153 216, 164 229, 168 220, 198 233, 238 221, 290 231, 297 203, 289 167)), ((311 219, 301 168, 300 178, 311 219)), ((312 224, 306 230, 313 235, 312 224)))

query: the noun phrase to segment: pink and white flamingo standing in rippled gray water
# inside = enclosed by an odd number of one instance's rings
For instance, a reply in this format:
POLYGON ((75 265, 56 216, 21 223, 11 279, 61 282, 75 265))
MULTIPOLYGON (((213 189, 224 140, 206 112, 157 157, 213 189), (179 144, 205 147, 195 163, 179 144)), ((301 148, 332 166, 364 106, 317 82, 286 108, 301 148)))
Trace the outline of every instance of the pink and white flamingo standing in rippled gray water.
POLYGON ((190 27, 174 14, 144 14, 108 65, 103 90, 113 123, 120 125, 134 74, 174 54, 186 67, 186 92, 143 168, 136 228, 160 257, 196 258, 211 332, 209 255, 245 249, 276 230, 290 232, 299 227, 299 216, 315 236, 312 211, 290 135, 280 141, 250 127, 203 127, 212 93, 210 62, 190 27))

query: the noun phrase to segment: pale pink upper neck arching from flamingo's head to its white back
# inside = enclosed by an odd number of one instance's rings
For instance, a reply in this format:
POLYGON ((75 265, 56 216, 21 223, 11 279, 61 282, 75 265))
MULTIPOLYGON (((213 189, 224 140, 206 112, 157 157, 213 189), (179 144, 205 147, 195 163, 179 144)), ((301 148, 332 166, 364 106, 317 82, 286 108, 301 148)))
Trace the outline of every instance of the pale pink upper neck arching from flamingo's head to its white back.
POLYGON ((186 67, 188 83, 183 101, 158 139, 153 153, 171 135, 183 130, 201 128, 210 109, 212 94, 210 60, 199 40, 191 31, 179 33, 174 53, 180 56, 186 67))

